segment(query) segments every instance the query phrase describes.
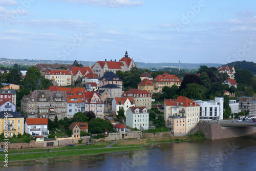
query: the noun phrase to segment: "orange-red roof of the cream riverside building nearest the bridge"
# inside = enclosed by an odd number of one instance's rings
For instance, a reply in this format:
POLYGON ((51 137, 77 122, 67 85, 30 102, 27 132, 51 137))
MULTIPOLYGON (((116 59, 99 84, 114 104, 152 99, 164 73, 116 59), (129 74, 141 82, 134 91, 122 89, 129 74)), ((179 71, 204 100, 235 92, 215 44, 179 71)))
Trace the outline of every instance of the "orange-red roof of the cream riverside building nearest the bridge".
POLYGON ((164 100, 166 105, 174 105, 174 106, 200 106, 196 102, 190 100, 185 96, 179 96, 176 100, 175 99, 165 99, 164 100), (177 105, 178 103, 178 105, 177 105), (190 105, 191 103, 191 105, 190 105))

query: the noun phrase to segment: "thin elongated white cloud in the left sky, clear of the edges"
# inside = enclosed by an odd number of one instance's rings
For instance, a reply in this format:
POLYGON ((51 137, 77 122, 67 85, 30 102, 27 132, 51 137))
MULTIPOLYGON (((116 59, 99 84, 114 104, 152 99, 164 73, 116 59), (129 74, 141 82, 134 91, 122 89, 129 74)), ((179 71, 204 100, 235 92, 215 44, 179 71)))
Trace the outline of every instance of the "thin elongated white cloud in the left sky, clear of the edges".
POLYGON ((88 23, 73 19, 33 19, 27 23, 38 27, 60 27, 83 31, 84 29, 95 29, 97 27, 97 23, 88 23))

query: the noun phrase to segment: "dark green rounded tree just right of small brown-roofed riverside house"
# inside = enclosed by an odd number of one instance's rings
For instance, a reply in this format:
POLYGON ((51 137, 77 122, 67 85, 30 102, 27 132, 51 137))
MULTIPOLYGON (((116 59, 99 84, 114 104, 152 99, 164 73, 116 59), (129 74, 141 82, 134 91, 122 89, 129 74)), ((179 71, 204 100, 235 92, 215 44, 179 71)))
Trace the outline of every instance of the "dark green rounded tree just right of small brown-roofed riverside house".
POLYGON ((88 126, 89 132, 92 134, 102 134, 105 130, 115 132, 113 130, 113 124, 101 118, 92 119, 90 122, 88 122, 88 126))

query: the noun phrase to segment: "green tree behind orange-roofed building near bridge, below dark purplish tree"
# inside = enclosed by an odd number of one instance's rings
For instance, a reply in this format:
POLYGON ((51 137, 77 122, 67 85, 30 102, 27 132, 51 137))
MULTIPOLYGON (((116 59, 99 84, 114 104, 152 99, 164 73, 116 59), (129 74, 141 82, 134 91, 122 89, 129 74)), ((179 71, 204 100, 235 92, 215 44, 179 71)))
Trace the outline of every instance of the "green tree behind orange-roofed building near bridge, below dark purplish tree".
POLYGON ((189 83, 187 88, 181 91, 181 95, 189 99, 204 100, 206 98, 205 92, 204 86, 197 83, 189 83))

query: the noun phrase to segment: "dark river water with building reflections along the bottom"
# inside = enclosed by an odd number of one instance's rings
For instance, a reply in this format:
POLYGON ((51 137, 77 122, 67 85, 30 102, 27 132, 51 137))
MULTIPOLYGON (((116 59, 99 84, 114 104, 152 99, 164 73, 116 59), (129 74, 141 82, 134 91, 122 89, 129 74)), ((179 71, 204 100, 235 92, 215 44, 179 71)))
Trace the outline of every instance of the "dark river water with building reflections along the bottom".
MULTIPOLYGON (((256 134, 221 140, 193 140, 112 153, 86 160, 0 167, 0 170, 256 170, 256 134)), ((78 157, 82 158, 82 157, 78 157)))

